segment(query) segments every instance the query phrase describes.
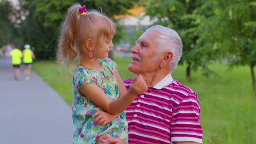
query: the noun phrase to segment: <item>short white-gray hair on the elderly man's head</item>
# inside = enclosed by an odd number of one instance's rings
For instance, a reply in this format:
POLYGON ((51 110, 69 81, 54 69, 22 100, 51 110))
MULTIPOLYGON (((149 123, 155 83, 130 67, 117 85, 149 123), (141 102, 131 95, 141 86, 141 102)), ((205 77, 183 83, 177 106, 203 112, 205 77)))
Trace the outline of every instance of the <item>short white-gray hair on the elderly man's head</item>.
MULTIPOLYGON (((171 28, 156 25, 147 29, 148 31, 158 31, 161 33, 160 37, 156 38, 158 44, 158 52, 172 52, 173 57, 170 63, 172 70, 176 69, 177 63, 182 56, 182 39, 178 33, 171 28)), ((172 71, 171 71, 172 72, 172 71)))

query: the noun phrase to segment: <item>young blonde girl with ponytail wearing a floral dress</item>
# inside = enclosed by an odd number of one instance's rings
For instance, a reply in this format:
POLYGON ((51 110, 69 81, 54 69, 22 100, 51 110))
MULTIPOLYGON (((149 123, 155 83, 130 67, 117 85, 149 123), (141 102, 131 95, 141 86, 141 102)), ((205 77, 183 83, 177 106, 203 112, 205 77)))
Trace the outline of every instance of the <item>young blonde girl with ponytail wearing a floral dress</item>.
POLYGON ((59 64, 79 61, 72 82, 73 143, 95 143, 102 134, 127 141, 124 110, 148 87, 142 76, 136 75, 126 92, 117 64, 107 57, 114 46, 114 23, 96 11, 85 12, 85 5, 68 9, 57 51, 59 64))

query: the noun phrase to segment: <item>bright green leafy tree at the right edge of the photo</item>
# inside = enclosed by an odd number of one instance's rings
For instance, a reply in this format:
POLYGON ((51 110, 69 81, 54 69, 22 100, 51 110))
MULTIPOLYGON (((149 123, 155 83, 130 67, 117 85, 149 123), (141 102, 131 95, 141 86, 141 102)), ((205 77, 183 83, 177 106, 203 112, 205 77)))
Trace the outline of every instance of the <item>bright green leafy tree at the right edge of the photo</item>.
POLYGON ((254 1, 215 1, 212 5, 214 16, 208 19, 212 37, 207 40, 224 58, 229 59, 230 67, 248 65, 251 69, 252 86, 256 94, 254 67, 256 65, 256 2, 254 1))

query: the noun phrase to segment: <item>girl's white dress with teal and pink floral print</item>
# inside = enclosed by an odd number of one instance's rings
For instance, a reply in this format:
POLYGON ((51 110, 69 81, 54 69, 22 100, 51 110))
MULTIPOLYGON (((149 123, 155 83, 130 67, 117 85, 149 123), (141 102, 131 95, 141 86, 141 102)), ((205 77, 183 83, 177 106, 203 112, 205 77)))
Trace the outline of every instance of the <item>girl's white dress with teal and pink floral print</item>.
MULTIPOLYGON (((115 100, 119 97, 119 88, 115 80, 114 70, 117 64, 110 58, 98 59, 102 65, 100 69, 92 70, 78 65, 73 77, 73 143, 95 143, 103 134, 120 137, 127 141, 126 113, 121 113, 112 123, 104 126, 96 125, 91 115, 97 111, 103 111, 87 97, 82 97, 78 89, 87 84, 95 83, 106 93, 107 97, 115 100)), ((92 89, 92 91, 94 91, 92 89)))

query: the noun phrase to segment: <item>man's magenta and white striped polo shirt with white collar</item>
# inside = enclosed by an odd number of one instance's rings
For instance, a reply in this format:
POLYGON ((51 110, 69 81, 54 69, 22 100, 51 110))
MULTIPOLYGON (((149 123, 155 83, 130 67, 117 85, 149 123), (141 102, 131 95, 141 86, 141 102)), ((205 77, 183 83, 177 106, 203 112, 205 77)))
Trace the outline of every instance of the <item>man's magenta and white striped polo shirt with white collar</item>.
MULTIPOLYGON (((131 79, 123 81, 129 89, 131 79)), ((129 143, 202 143, 200 106, 190 88, 173 80, 171 74, 137 95, 126 109, 129 143)))

